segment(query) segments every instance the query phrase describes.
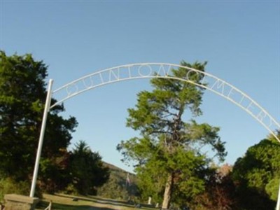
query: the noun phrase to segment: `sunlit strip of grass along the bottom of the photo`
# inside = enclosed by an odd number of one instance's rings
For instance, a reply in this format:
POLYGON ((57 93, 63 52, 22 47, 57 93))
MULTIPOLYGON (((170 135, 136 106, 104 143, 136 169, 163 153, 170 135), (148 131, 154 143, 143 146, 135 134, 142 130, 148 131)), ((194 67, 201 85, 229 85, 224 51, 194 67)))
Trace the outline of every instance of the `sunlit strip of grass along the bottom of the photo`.
MULTIPOLYGON (((111 200, 102 197, 94 196, 72 196, 72 195, 43 195, 43 200, 37 205, 36 209, 45 209, 48 204, 52 201, 53 210, 111 210, 111 209, 123 209, 132 210, 137 209, 134 204, 128 204, 127 202, 120 200, 111 200), (74 200, 76 201, 74 201, 74 200)), ((154 209, 152 207, 147 207, 146 205, 141 205, 141 209, 154 209)))

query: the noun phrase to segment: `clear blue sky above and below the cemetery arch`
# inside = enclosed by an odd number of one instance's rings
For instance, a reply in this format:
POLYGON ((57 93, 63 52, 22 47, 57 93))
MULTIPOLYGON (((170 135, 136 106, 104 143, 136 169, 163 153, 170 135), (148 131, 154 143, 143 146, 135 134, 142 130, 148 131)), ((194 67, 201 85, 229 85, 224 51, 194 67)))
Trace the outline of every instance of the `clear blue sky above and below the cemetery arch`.
MULTIPOLYGON (((32 53, 48 64, 54 89, 100 69, 135 62, 208 61, 207 72, 246 92, 280 121, 280 1, 3 1, 1 50, 32 53)), ((148 80, 106 85, 64 103, 83 139, 106 162, 136 135, 127 108, 148 80)), ((267 137, 255 119, 206 92, 200 122, 221 127, 233 164, 267 137)))

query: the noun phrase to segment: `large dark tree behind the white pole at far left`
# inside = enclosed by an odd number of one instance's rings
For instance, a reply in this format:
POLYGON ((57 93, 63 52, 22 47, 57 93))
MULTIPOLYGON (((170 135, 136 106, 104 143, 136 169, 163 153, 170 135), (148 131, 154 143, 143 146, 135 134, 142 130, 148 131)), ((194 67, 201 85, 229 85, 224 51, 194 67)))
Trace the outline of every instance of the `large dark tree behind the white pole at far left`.
MULTIPOLYGON (((0 176, 15 181, 31 179, 41 129, 46 96, 47 66, 27 54, 7 56, 0 52, 0 176)), ((55 99, 52 99, 55 102, 55 99)), ((64 172, 63 159, 70 144, 76 119, 58 114, 64 107, 56 106, 48 114, 48 126, 41 165, 52 165, 55 172, 64 172)), ((42 169, 42 168, 41 168, 42 169)), ((53 170, 40 172, 41 183, 63 180, 53 170), (56 176, 56 177, 54 177, 56 176), (48 178, 48 179, 47 179, 48 178)))

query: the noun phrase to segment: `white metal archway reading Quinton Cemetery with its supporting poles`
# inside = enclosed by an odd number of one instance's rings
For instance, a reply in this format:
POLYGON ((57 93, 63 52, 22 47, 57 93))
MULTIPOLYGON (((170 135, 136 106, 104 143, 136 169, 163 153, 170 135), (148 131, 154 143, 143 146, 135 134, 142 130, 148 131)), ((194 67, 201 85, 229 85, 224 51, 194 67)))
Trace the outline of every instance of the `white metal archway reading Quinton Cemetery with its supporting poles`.
MULTIPOLYGON (((139 78, 165 78, 181 80, 210 90, 211 92, 214 92, 220 95, 221 97, 228 99, 230 102, 246 111, 280 142, 280 139, 274 133, 275 130, 280 130, 279 123, 277 123, 276 120, 274 120, 274 118, 272 118, 272 116, 270 116, 270 114, 262 108, 262 106, 260 106, 257 102, 251 99, 251 97, 248 97, 247 94, 239 90, 237 87, 230 85, 230 83, 225 82, 225 80, 222 80, 221 78, 213 76, 210 73, 199 71, 197 69, 192 69, 186 66, 167 63, 140 63, 116 66, 110 69, 104 69, 102 71, 91 73, 87 76, 78 78, 77 80, 73 80, 72 82, 63 85, 62 87, 59 87, 53 92, 52 80, 50 80, 48 86, 47 99, 45 102, 45 110, 43 113, 43 122, 38 143, 38 150, 31 184, 30 197, 34 197, 35 193, 38 166, 41 157, 41 149, 43 146, 43 136, 45 132, 45 124, 48 116, 48 111, 50 111, 50 109, 52 109, 57 104, 61 104, 67 99, 70 99, 71 97, 74 97, 77 94, 80 94, 87 90, 91 90, 95 87, 99 87, 110 83, 116 83, 123 80, 132 80, 139 78), (174 68, 184 68, 188 69, 189 71, 188 73, 186 73, 186 76, 184 78, 177 78, 176 76, 170 74, 172 73, 171 70, 174 68), (202 82, 195 83, 195 81, 191 80, 189 77, 191 73, 197 73, 200 76, 203 76, 202 82), (55 95, 57 102, 51 105, 50 101, 52 95, 55 95)), ((276 209, 280 210, 280 190, 276 209)))

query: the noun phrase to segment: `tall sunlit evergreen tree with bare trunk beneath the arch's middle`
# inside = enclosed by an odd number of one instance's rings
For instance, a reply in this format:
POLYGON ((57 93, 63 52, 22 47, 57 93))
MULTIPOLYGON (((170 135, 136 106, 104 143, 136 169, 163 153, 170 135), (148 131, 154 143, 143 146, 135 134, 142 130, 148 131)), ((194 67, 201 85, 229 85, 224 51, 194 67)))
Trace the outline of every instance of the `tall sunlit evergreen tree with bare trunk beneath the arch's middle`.
MULTIPOLYGON (((181 65, 204 71, 206 63, 181 65)), ((172 74, 202 83, 202 74, 183 67, 172 69, 172 74)), ((154 195, 163 193, 162 208, 169 209, 175 191, 191 200, 204 190, 210 160, 200 148, 210 146, 221 160, 225 148, 218 137, 218 127, 183 120, 185 111, 189 118, 202 114, 202 87, 162 78, 152 79, 151 84, 153 91, 140 92, 135 109, 128 109, 127 126, 139 131, 141 137, 122 141, 117 148, 124 160, 137 162, 135 170, 142 189, 154 195)))

